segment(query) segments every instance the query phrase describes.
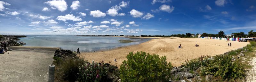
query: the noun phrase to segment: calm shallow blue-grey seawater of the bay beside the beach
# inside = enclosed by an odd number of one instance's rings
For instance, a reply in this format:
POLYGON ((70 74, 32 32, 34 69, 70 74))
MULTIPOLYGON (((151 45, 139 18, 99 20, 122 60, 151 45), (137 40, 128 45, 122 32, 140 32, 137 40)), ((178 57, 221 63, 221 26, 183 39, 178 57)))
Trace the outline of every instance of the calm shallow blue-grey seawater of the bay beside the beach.
POLYGON ((24 46, 37 47, 60 47, 76 51, 77 48, 83 52, 92 52, 98 50, 112 49, 116 47, 129 46, 140 44, 149 41, 150 39, 131 39, 125 37, 111 36, 64 36, 64 35, 28 35, 24 38, 19 38, 20 41, 26 43, 24 46), (131 43, 120 43, 118 40, 132 40, 131 43))

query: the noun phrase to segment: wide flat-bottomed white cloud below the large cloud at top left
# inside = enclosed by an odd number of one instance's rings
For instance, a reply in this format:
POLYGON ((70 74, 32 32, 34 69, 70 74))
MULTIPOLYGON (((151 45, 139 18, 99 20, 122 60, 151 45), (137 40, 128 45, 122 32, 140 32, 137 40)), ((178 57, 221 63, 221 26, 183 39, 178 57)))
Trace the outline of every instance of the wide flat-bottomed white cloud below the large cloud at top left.
POLYGON ((72 21, 82 21, 82 19, 78 16, 74 16, 73 14, 68 14, 65 16, 58 16, 56 19, 58 19, 59 21, 67 21, 67 20, 72 20, 72 21))

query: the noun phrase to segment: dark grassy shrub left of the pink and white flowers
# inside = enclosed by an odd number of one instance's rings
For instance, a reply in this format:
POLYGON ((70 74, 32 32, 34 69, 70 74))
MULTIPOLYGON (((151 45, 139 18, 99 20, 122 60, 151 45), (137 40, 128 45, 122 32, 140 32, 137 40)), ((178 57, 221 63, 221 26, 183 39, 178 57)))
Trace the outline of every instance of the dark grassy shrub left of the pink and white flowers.
POLYGON ((76 81, 79 73, 79 66, 84 65, 87 61, 84 58, 68 58, 61 64, 63 76, 65 80, 76 81))

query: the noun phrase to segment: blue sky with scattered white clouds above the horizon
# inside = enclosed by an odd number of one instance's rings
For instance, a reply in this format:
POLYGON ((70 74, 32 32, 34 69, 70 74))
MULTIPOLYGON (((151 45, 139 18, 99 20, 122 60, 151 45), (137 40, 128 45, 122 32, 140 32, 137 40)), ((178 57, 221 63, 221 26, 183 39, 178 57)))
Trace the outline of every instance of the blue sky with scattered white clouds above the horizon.
POLYGON ((256 0, 0 0, 2 35, 225 34, 256 30, 256 0))

